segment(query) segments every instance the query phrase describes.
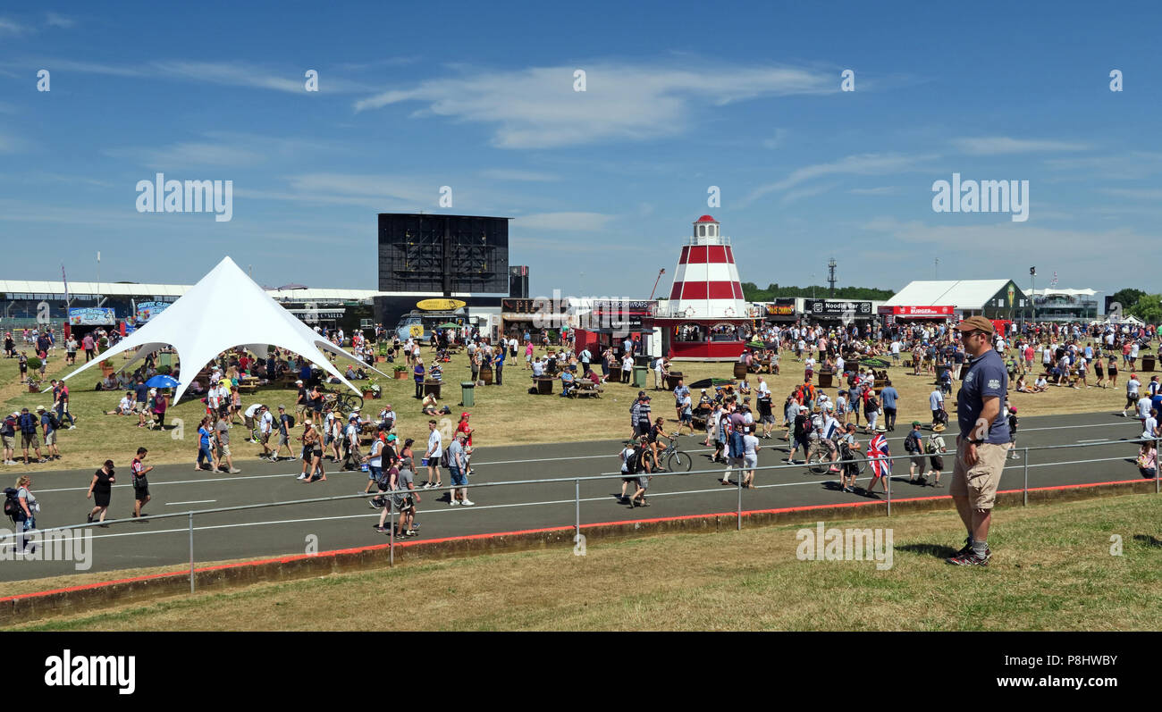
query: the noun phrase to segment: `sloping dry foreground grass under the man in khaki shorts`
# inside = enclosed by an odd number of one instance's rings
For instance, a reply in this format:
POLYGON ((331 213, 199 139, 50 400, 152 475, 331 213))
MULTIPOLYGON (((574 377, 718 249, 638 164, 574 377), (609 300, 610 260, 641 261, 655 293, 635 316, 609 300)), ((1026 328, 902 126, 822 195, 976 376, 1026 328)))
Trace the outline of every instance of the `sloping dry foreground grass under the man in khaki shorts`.
POLYGON ((590 542, 416 563, 124 606, 22 630, 1159 630, 1162 497, 1005 509, 987 568, 940 559, 953 512, 829 523, 891 527, 894 567, 799 561, 798 526, 590 542), (1111 555, 1111 537, 1122 552, 1111 555), (325 600, 325 609, 318 602, 325 600))

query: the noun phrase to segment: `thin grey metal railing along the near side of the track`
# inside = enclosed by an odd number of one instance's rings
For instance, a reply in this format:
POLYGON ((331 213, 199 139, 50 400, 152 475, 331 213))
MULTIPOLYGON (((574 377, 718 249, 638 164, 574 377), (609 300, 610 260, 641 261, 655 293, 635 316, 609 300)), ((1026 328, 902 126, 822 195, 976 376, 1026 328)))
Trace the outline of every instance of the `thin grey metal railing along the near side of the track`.
MULTIPOLYGON (((1076 444, 1076 445, 1038 445, 1038 446, 1026 446, 1026 447, 1010 450, 1009 453, 1013 453, 1013 452, 1020 452, 1021 453, 1021 460, 1023 460, 1023 467, 1021 467, 1021 469, 1023 469, 1023 474, 1024 474, 1024 482, 1023 482, 1023 486, 1021 486, 1021 489, 1023 489, 1023 505, 1024 506, 1028 505, 1028 489, 1030 489, 1028 488, 1028 469, 1030 469, 1030 453, 1031 452, 1037 452, 1037 451, 1064 451, 1064 450, 1073 450, 1073 448, 1103 447, 1103 446, 1111 446, 1111 445, 1117 445, 1117 446, 1133 445, 1135 447, 1140 447, 1140 445, 1142 443, 1145 443, 1145 441, 1146 441, 1146 439, 1131 438, 1131 439, 1122 439, 1122 440, 1104 440, 1104 441, 1098 441, 1098 443, 1082 443, 1082 444, 1076 444)), ((1154 439, 1155 453, 1159 452, 1157 448, 1159 448, 1160 444, 1162 444, 1162 438, 1155 438, 1154 439)), ((768 450, 774 450, 774 448, 768 448, 768 450)), ((866 463, 866 465, 870 466, 870 463, 871 463, 873 460, 875 460, 875 461, 895 462, 896 460, 911 460, 913 458, 921 458, 923 459, 923 458, 945 456, 945 455, 949 455, 949 456, 955 458, 956 456, 956 452, 952 451, 952 452, 944 452, 944 453, 940 453, 940 452, 938 452, 938 453, 908 453, 908 454, 903 454, 903 455, 888 455, 888 456, 883 456, 883 458, 878 458, 878 456, 876 456, 876 458, 858 456, 858 458, 852 458, 852 459, 838 459, 834 462, 832 462, 832 461, 822 461, 822 462, 819 462, 819 465, 825 465, 825 466, 830 467, 832 465, 844 466, 844 465, 852 465, 852 463, 854 463, 854 465, 859 466, 861 463, 866 463)), ((611 456, 616 456, 616 455, 611 455, 611 456)), ((1007 456, 1009 455, 1006 453, 1006 458, 1007 456)), ((738 459, 738 460, 740 461, 741 459, 738 459)), ((1050 462, 1038 463, 1038 465, 1034 465, 1033 467, 1048 467, 1048 466, 1053 466, 1053 465, 1078 465, 1078 463, 1090 463, 1090 462, 1113 462, 1113 461, 1122 461, 1124 462, 1125 460, 1126 460, 1126 455, 1120 455, 1120 456, 1114 456, 1114 458, 1097 458, 1097 459, 1092 459, 1092 460, 1073 460, 1073 461, 1064 461, 1064 462, 1053 462, 1053 461, 1050 461, 1050 462)), ((1006 459, 1005 469, 1009 468, 1009 465, 1007 465, 1009 461, 1010 460, 1006 459)), ((15 539, 16 541, 22 541, 24 538, 30 537, 33 534, 41 534, 41 535, 43 535, 43 534, 49 533, 49 532, 66 532, 66 531, 74 531, 74 530, 86 530, 86 528, 92 528, 94 526, 94 524, 98 524, 98 525, 120 525, 120 524, 128 524, 128 523, 131 523, 131 522, 144 522, 144 520, 155 520, 155 519, 157 519, 157 520, 160 520, 160 519, 175 519, 175 518, 182 517, 182 518, 186 518, 187 522, 188 522, 188 531, 189 531, 189 591, 194 592, 194 590, 195 590, 194 517, 196 517, 196 516, 217 515, 217 513, 222 513, 222 512, 237 512, 237 511, 246 511, 246 510, 258 510, 258 509, 267 509, 267 508, 273 508, 273 506, 293 506, 293 505, 301 505, 301 504, 318 504, 318 503, 322 503, 322 502, 339 502, 339 501, 345 501, 345 499, 366 499, 367 497, 383 498, 383 499, 386 499, 386 506, 388 508, 387 518, 385 519, 385 522, 388 523, 388 527, 387 528, 388 528, 388 532, 389 532, 389 534, 388 534, 388 564, 389 566, 394 566, 394 563, 395 563, 395 526, 394 526, 394 524, 395 523, 393 522, 393 519, 395 518, 395 516, 397 513, 396 509, 395 509, 395 496, 396 495, 406 496, 406 495, 408 495, 410 492, 438 492, 438 491, 444 491, 444 490, 451 491, 451 490, 457 490, 457 489, 486 489, 486 488, 496 488, 496 487, 518 487, 518 486, 529 486, 529 484, 562 484, 562 483, 572 482, 574 484, 574 488, 573 488, 573 491, 574 491, 574 494, 573 494, 573 504, 574 504, 574 522, 573 522, 574 542, 578 542, 578 541, 581 540, 580 538, 581 538, 581 483, 582 482, 594 482, 594 481, 604 481, 604 480, 619 480, 619 479, 627 477, 627 476, 629 477, 640 477, 640 476, 647 476, 647 477, 686 477, 686 476, 691 476, 691 475, 715 475, 716 477, 718 477, 718 476, 722 476, 726 472, 737 473, 739 476, 737 477, 737 482, 736 482, 736 489, 737 489, 737 492, 738 492, 738 502, 737 502, 737 510, 736 510, 736 517, 737 517, 736 518, 736 528, 738 531, 741 531, 741 528, 743 528, 743 512, 744 512, 744 510, 743 510, 743 490, 746 489, 746 488, 743 487, 743 476, 741 475, 744 473, 748 473, 748 472, 752 472, 752 470, 755 472, 755 473, 758 473, 760 470, 761 472, 767 472, 767 470, 776 470, 777 472, 777 470, 788 470, 788 469, 803 470, 806 467, 808 467, 806 463, 794 463, 794 465, 791 465, 791 463, 782 463, 782 465, 756 466, 756 467, 751 468, 751 467, 745 467, 745 466, 740 467, 740 466, 737 466, 737 465, 732 463, 731 466, 729 466, 726 468, 716 467, 716 468, 712 468, 712 469, 696 469, 696 470, 689 470, 689 472, 668 472, 668 470, 664 470, 664 472, 657 472, 657 473, 639 472, 639 473, 636 473, 636 474, 625 474, 625 473, 616 472, 616 473, 601 473, 601 474, 597 474, 597 475, 584 475, 584 476, 544 477, 544 479, 536 479, 536 480, 508 480, 508 481, 503 481, 503 482, 480 482, 480 483, 476 483, 476 484, 467 484, 467 486, 462 486, 462 487, 439 487, 439 488, 431 488, 431 489, 424 489, 424 488, 393 489, 393 490, 382 490, 382 491, 373 491, 373 492, 363 492, 363 494, 358 494, 358 495, 335 495, 335 496, 330 496, 330 497, 311 497, 311 498, 308 498, 308 499, 289 499, 289 501, 285 501, 285 502, 264 502, 264 503, 256 503, 256 504, 241 504, 241 505, 235 505, 235 506, 218 506, 218 508, 213 508, 213 509, 189 510, 189 511, 186 511, 186 512, 174 512, 174 513, 168 513, 168 515, 146 515, 146 516, 142 516, 142 517, 137 517, 137 518, 131 518, 131 519, 106 519, 102 523, 72 524, 72 525, 56 526, 56 527, 50 527, 50 528, 44 528, 44 530, 29 530, 27 532, 17 531, 17 532, 12 532, 12 533, 0 534, 0 542, 2 542, 6 539, 15 539)), ((1136 465, 1135 465, 1135 467, 1136 467, 1136 465)), ((417 472, 422 472, 422 470, 417 470, 417 472)), ((951 472, 951 469, 949 470, 941 470, 941 472, 951 472)), ((824 474, 829 475, 829 476, 834 476, 835 475, 835 473, 831 473, 831 472, 827 472, 827 473, 824 473, 824 474)), ((292 477, 294 475, 293 474, 288 474, 287 476, 292 477)), ((868 474, 866 472, 861 472, 861 473, 859 473, 855 476, 858 479, 862 479, 862 480, 867 480, 868 479, 868 474)), ((884 482, 884 486, 885 486, 884 494, 885 494, 885 497, 887 497, 883 501, 883 503, 885 504, 887 516, 889 516, 889 517, 891 516, 891 482, 892 482, 894 477, 899 477, 899 476, 903 476, 903 475, 895 475, 895 474, 889 473, 883 479, 883 482, 884 482)), ((1155 491, 1155 494, 1162 494, 1162 473, 1160 473, 1160 472, 1157 472, 1157 469, 1155 469, 1155 476, 1153 477, 1153 480, 1154 480, 1154 491, 1155 491)), ((805 481, 805 482, 786 482, 786 483, 774 483, 774 484, 761 484, 761 486, 755 486, 755 488, 756 489, 767 489, 767 488, 772 488, 772 487, 810 486, 810 484, 820 484, 823 481, 819 481, 819 480, 810 480, 810 481, 805 481)), ((159 483, 159 484, 164 484, 164 483, 159 483)), ((719 489, 712 489, 712 490, 704 490, 705 494, 713 492, 713 491, 719 491, 720 492, 720 491, 729 491, 729 490, 724 490, 724 489, 720 489, 720 488, 719 489)), ((661 492, 661 495, 665 495, 665 494, 666 492, 661 492)), ((869 492, 869 494, 871 494, 871 492, 869 492)), ((533 503, 528 503, 528 504, 533 504, 533 503)), ((552 503, 540 503, 540 504, 557 504, 557 503, 552 502, 552 503)), ((421 513, 421 511, 417 509, 416 513, 418 515, 418 513, 421 513)), ((178 531, 180 531, 180 530, 178 530, 178 531)), ((14 542, 14 546, 15 546, 15 544, 16 542, 14 542)))

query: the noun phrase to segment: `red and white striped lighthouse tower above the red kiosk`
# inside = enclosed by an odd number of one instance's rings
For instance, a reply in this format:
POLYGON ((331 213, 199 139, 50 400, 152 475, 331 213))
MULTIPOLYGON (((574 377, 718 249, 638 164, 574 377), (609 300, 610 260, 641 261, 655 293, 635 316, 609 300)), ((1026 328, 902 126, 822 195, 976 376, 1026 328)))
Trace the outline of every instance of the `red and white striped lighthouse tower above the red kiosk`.
POLYGON ((747 316, 730 238, 719 233, 718 221, 709 215, 694 223, 694 236, 682 246, 669 289, 669 316, 687 319, 747 316))

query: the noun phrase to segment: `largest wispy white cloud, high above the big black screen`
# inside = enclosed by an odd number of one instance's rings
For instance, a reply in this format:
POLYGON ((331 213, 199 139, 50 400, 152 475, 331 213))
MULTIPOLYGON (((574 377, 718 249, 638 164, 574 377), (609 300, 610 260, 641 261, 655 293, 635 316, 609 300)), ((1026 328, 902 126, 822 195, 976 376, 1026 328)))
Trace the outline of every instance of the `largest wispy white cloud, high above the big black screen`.
POLYGON ((354 108, 419 102, 425 108, 414 115, 489 124, 496 146, 541 149, 677 135, 695 122, 700 102, 723 106, 758 96, 830 94, 838 88, 830 73, 795 67, 580 63, 432 79, 357 101, 354 108), (586 71, 584 92, 573 91, 573 72, 579 67, 586 71))

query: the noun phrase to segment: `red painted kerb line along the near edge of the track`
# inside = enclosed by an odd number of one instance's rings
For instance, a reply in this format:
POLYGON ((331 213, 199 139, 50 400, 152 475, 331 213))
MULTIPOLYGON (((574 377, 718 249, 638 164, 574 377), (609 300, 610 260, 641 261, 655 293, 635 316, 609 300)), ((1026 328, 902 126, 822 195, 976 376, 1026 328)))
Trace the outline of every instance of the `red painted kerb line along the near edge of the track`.
MULTIPOLYGON (((1086 487, 1102 487, 1103 484, 1128 484, 1128 483, 1132 483, 1132 482, 1146 482, 1146 480, 1141 480, 1141 479, 1139 479, 1139 480, 1117 480, 1117 481, 1113 481, 1113 482, 1088 482, 1085 484, 1060 484, 1060 486, 1054 486, 1054 487, 1034 487, 1034 488, 1030 488, 1028 491, 1035 492, 1035 491, 1049 491, 1049 490, 1062 490, 1062 489, 1082 489, 1082 488, 1086 488, 1086 487)), ((997 494, 998 495, 1004 495, 1004 494, 1013 494, 1013 492, 1020 492, 1020 491, 1024 491, 1024 490, 1006 489, 1006 490, 1000 490, 997 494)), ((892 502, 925 502, 925 501, 931 501, 931 499, 951 499, 951 498, 952 498, 951 495, 942 495, 942 496, 939 496, 939 497, 910 497, 910 498, 904 498, 904 499, 892 499, 892 502)), ((805 512, 805 511, 820 510, 820 509, 839 509, 839 508, 845 508, 845 506, 851 506, 851 508, 856 508, 856 506, 876 506, 876 505, 880 505, 880 504, 884 504, 885 505, 887 501, 877 501, 877 502, 846 502, 846 503, 840 503, 840 504, 812 504, 812 505, 808 505, 808 506, 787 506, 787 508, 781 508, 781 509, 746 510, 746 511, 743 512, 743 516, 744 517, 748 517, 748 516, 752 516, 752 515, 776 515, 776 513, 786 513, 786 512, 805 512)), ((720 513, 716 513, 716 515, 683 515, 683 516, 679 516, 679 517, 657 517, 657 518, 653 518, 653 519, 625 519, 625 520, 622 520, 622 522, 601 522, 601 523, 596 523, 596 524, 582 524, 581 528, 591 528, 591 527, 595 527, 595 526, 617 526, 617 525, 622 525, 622 524, 652 524, 652 523, 659 523, 659 522, 682 522, 682 520, 687 520, 687 519, 711 519, 713 517, 738 517, 738 510, 730 511, 730 512, 720 512, 720 513)), ((445 541, 471 541, 471 540, 474 540, 474 539, 496 539, 496 538, 500 538, 500 537, 515 537, 515 535, 518 535, 518 534, 539 534, 539 533, 545 533, 545 532, 567 532, 567 531, 573 531, 574 528, 576 528, 576 527, 574 527, 573 525, 567 525, 567 526, 550 526, 550 527, 545 527, 545 528, 518 530, 518 531, 514 531, 514 532, 494 532, 494 533, 488 533, 488 534, 467 534, 467 535, 462 535, 462 537, 445 537, 443 539, 424 539, 422 541, 400 541, 395 546, 397 546, 397 547, 425 546, 425 545, 432 545, 432 544, 442 544, 442 542, 445 542, 445 541)), ((205 567, 205 568, 200 568, 200 569, 194 569, 194 571, 195 573, 199 573, 199 571, 217 571, 217 570, 230 569, 230 568, 236 568, 236 567, 259 566, 259 564, 263 564, 263 563, 275 563, 275 562, 278 562, 278 563, 288 563, 290 561, 297 561, 297 560, 302 560, 302 559, 320 559, 320 558, 323 558, 323 556, 337 556, 338 554, 358 554, 358 553, 361 553, 361 552, 382 551, 382 549, 388 548, 389 546, 390 546, 389 544, 376 544, 376 545, 373 545, 373 546, 363 546, 363 547, 346 548, 346 549, 335 549, 335 551, 330 551, 330 552, 318 552, 317 554, 296 554, 294 556, 280 556, 280 558, 274 558, 274 559, 263 559, 263 560, 259 560, 259 561, 241 561, 241 562, 237 562, 237 563, 223 563, 221 566, 210 566, 210 567, 205 567)), ((84 590, 89 590, 89 589, 99 589, 99 588, 103 588, 103 587, 108 587, 108 585, 114 585, 114 584, 117 584, 117 583, 132 583, 132 582, 137 582, 137 581, 149 581, 151 578, 167 578, 167 577, 171 577, 171 576, 182 576, 182 577, 185 577, 185 576, 188 576, 188 575, 189 575, 189 571, 171 571, 171 573, 165 573, 165 574, 149 574, 149 575, 145 575, 145 576, 134 576, 131 578, 119 578, 116 581, 101 581, 99 583, 87 583, 85 585, 74 585, 74 587, 69 587, 69 588, 64 588, 64 589, 52 589, 50 591, 36 591, 36 592, 33 592, 33 594, 20 594, 17 596, 7 596, 7 597, 3 597, 3 598, 0 598, 0 603, 7 603, 9 600, 21 600, 21 599, 26 599, 26 598, 37 598, 37 597, 43 597, 43 596, 51 596, 53 594, 67 594, 67 592, 71 592, 71 591, 84 591, 84 590)))

